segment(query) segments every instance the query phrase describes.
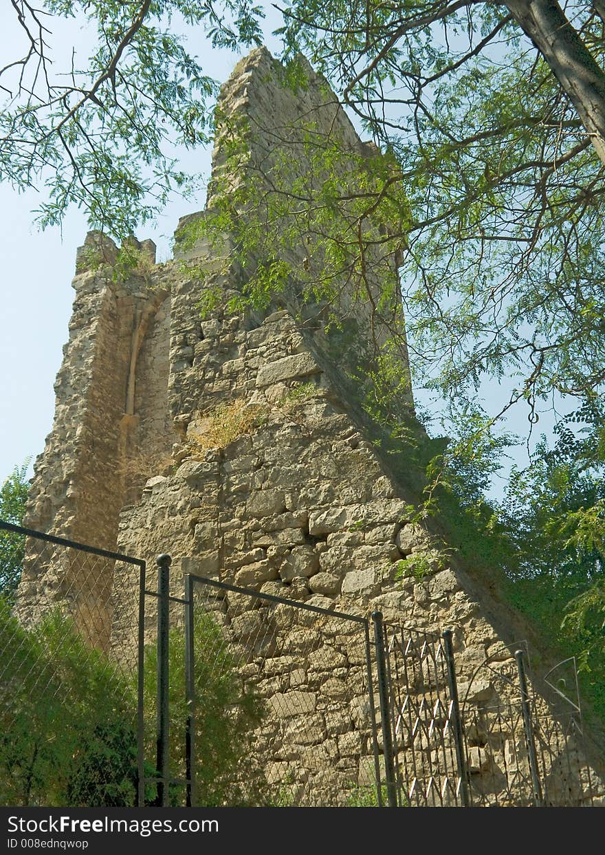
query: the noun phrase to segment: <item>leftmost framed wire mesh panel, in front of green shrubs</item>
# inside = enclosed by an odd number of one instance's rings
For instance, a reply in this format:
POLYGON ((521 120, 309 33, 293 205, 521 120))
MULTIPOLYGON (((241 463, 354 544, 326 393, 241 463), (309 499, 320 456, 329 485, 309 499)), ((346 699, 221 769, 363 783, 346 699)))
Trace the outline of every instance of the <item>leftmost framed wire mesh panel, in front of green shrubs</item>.
MULTIPOLYGON (((0 805, 138 802, 138 620, 110 651, 115 575, 144 562, 0 522, 23 555, 0 596, 0 805)), ((137 615, 138 618, 138 615, 137 615)))

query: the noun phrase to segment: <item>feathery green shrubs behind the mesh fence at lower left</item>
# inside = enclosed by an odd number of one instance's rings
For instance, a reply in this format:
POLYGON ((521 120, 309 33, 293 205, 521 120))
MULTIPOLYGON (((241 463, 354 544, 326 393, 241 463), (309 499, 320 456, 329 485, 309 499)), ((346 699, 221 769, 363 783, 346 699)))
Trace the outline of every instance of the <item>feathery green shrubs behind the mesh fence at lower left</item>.
MULTIPOLYGON (((0 598, 0 804, 132 806, 137 801, 137 687, 134 675, 88 646, 58 611, 24 628, 0 598)), ((171 772, 185 776, 184 635, 170 637, 171 772)), ((145 648, 145 775, 156 761, 156 646, 145 648)), ((198 615, 195 632, 197 804, 267 803, 253 751, 264 706, 246 690, 220 628, 198 615)), ((145 791, 152 804, 151 783, 145 791)), ((184 787, 171 803, 182 805, 184 787)))

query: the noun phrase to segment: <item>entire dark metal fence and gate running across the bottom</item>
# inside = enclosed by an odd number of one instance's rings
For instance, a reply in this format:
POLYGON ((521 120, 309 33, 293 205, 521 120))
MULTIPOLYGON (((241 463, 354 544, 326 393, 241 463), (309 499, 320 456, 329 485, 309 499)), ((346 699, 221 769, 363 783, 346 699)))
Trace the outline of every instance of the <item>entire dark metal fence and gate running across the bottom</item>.
POLYGON ((2 521, 0 547, 0 805, 605 798, 573 660, 537 694, 511 648, 459 704, 450 631, 192 575, 183 594, 167 555, 146 580, 142 560, 2 521))

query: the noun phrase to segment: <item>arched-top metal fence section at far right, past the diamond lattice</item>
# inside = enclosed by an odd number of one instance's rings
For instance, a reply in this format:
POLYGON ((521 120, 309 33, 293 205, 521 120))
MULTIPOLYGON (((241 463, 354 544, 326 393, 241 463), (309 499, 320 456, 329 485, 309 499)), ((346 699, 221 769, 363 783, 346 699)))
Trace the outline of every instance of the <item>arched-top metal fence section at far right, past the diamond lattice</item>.
POLYGON ((474 675, 475 685, 489 681, 492 696, 499 700, 473 705, 463 699, 470 804, 595 805, 604 793, 586 750, 575 661, 557 666, 568 666, 572 699, 559 691, 549 693, 547 680, 536 676, 526 680, 526 642, 510 646, 508 654, 499 653, 494 662, 486 660, 474 675), (542 689, 539 694, 537 685, 542 689))

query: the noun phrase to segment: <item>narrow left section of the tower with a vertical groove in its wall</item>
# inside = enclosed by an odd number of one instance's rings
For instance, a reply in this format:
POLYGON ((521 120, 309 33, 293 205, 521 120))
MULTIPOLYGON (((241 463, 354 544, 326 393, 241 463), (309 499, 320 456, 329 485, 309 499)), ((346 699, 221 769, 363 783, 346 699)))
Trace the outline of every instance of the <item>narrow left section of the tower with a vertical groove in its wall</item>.
MULTIPOLYGON (((155 263, 155 246, 147 248, 155 263)), ((170 298, 132 273, 115 280, 117 248, 90 233, 79 251, 70 339, 56 380, 56 412, 34 467, 25 525, 115 550, 121 508, 166 466, 174 433, 167 406, 170 298), (102 254, 101 254, 102 253, 102 254)), ((45 567, 30 541, 17 594, 24 620, 62 598, 94 623, 87 634, 106 646, 113 563, 84 574, 78 562, 45 567)))

